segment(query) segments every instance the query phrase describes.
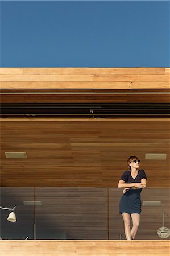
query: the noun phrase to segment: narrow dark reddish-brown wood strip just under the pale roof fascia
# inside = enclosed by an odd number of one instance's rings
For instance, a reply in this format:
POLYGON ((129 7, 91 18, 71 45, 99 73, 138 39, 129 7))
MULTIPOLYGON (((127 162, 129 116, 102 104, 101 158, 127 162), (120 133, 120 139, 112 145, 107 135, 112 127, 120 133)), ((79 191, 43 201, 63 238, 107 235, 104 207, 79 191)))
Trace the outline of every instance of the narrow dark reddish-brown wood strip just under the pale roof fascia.
POLYGON ((170 89, 1 89, 1 103, 169 103, 170 89))

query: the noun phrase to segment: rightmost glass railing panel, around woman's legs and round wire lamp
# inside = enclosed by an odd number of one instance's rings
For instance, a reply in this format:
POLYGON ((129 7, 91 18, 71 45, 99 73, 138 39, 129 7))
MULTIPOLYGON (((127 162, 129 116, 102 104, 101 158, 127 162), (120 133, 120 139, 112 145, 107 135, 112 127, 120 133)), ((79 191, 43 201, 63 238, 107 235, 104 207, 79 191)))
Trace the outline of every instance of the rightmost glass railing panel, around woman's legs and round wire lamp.
MULTIPOLYGON (((125 240, 122 214, 119 213, 119 200, 123 189, 109 188, 109 239, 125 240)), ((157 230, 163 226, 170 228, 170 189, 145 188, 141 193, 142 212, 135 240, 161 240, 157 230)), ((132 228, 132 219, 131 228, 132 228)), ((164 238, 169 240, 168 238, 164 238)))

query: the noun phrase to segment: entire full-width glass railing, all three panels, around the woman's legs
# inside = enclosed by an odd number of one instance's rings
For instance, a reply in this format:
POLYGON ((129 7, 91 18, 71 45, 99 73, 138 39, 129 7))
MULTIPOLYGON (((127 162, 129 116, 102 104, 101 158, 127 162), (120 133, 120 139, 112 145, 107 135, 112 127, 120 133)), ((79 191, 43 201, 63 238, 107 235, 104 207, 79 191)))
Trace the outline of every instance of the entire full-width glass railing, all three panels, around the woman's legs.
MULTIPOLYGON (((17 221, 0 209, 2 239, 125 240, 119 199, 123 189, 95 187, 0 188, 0 205, 13 208, 17 221)), ((170 228, 170 189, 145 188, 135 240, 162 240, 170 228)), ((131 223, 132 226, 132 223, 131 223)), ((170 236, 165 238, 170 239, 170 236)))

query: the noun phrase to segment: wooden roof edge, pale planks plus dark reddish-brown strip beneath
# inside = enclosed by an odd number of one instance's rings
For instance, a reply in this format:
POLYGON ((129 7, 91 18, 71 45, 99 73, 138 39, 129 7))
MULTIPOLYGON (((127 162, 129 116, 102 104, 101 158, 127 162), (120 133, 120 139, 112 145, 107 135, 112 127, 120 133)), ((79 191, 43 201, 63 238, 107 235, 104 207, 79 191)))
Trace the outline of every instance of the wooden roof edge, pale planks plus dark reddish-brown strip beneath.
POLYGON ((170 68, 0 68, 1 102, 169 102, 170 68))

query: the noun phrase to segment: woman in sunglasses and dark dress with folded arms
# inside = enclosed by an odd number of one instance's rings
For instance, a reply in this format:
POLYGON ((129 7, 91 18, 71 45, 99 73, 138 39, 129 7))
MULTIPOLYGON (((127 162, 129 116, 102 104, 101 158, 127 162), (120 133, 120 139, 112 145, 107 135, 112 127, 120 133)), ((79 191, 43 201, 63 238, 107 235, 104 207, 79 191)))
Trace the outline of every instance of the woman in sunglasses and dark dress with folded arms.
POLYGON ((129 171, 123 172, 118 183, 118 188, 123 189, 123 196, 119 204, 119 213, 122 214, 127 240, 134 240, 139 228, 141 200, 140 193, 146 187, 146 174, 139 169, 140 160, 136 156, 130 156, 127 160, 129 171), (130 216, 132 218, 132 229, 130 229, 130 216))

